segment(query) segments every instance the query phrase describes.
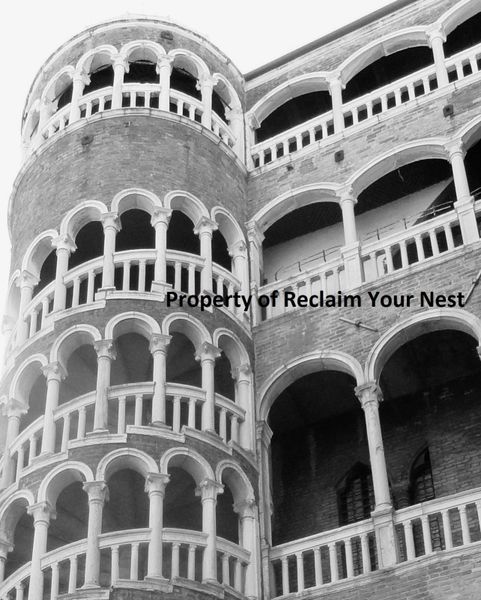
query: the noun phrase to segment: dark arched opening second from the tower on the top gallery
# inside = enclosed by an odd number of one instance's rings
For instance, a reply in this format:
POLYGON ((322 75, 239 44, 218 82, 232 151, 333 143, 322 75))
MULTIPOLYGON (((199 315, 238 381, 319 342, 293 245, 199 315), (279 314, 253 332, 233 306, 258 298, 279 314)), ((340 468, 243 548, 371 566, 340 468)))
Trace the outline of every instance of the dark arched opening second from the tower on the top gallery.
MULTIPOLYGON (((383 56, 364 67, 347 82, 342 93, 343 101, 350 102, 397 79, 424 69, 432 65, 433 62, 433 53, 428 46, 405 48, 388 56, 383 56)), ((401 102, 403 101, 405 100, 401 95, 401 102)))

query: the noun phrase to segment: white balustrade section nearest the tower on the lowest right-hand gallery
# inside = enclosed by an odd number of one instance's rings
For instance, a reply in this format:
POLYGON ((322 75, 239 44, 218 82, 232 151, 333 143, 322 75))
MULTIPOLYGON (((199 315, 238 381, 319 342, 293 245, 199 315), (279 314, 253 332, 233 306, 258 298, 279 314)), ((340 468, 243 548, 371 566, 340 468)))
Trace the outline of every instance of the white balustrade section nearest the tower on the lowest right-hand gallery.
POLYGON ((273 597, 352 579, 377 569, 372 521, 366 520, 274 546, 273 597))

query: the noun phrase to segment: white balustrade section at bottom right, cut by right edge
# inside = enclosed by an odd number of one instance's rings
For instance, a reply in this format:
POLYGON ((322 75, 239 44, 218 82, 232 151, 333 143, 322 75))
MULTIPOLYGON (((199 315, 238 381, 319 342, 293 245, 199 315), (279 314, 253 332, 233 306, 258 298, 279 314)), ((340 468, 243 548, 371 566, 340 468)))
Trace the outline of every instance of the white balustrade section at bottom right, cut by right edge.
POLYGON ((480 541, 481 488, 398 510, 394 523, 400 562, 480 541))

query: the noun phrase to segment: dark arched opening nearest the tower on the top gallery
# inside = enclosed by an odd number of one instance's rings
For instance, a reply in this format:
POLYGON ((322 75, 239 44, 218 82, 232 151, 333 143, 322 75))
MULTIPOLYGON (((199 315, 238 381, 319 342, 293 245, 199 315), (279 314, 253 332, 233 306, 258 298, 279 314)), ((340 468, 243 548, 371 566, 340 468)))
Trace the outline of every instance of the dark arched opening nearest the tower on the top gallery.
POLYGON ((308 92, 291 98, 262 121, 261 126, 255 131, 256 143, 263 142, 331 109, 331 95, 325 90, 308 92))

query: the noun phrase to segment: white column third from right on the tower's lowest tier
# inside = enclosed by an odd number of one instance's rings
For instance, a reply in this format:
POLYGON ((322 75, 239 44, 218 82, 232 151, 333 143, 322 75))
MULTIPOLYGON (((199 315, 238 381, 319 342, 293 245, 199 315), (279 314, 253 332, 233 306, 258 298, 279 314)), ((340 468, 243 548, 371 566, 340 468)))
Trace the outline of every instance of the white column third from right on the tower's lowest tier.
POLYGON ((147 577, 163 579, 162 575, 162 528, 165 486, 170 475, 149 473, 145 481, 145 491, 149 494, 149 556, 147 577))

